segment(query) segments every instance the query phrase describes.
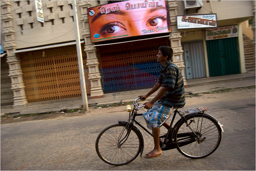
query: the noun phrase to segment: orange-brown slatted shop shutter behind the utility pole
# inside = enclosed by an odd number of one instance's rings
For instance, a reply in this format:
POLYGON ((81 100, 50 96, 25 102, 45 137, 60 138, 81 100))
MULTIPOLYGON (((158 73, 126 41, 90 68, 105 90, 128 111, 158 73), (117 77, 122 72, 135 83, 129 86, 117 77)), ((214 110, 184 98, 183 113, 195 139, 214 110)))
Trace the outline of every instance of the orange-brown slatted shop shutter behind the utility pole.
MULTIPOLYGON (((19 53, 28 103, 81 97, 76 46, 19 53)), ((86 91, 90 93, 82 46, 86 91)))

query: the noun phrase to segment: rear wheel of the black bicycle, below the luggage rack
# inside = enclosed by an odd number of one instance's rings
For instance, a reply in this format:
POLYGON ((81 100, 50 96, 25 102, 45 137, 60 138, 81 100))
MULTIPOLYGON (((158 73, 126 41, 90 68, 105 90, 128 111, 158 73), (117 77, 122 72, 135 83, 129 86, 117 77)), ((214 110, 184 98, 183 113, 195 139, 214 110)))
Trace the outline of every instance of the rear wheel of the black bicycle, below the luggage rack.
POLYGON ((189 126, 200 138, 196 138, 184 120, 181 119, 174 128, 173 138, 176 149, 182 155, 193 159, 204 158, 212 154, 221 143, 222 130, 218 121, 203 113, 190 114, 185 118, 188 123, 195 119, 195 122, 192 121, 189 126))

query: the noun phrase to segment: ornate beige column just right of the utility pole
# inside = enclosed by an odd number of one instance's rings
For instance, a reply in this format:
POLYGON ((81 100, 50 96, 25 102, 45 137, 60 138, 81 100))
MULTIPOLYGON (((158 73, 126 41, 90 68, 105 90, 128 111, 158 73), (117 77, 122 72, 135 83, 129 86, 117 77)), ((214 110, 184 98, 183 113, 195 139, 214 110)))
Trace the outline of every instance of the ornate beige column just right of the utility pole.
POLYGON ((83 38, 85 40, 85 52, 86 52, 86 65, 88 67, 89 81, 91 84, 91 96, 90 98, 104 97, 104 93, 101 85, 101 76, 99 70, 99 61, 97 58, 97 49, 91 43, 91 34, 89 29, 89 20, 87 15, 87 8, 91 7, 90 1, 79 1, 81 8, 81 21, 83 23, 83 38))

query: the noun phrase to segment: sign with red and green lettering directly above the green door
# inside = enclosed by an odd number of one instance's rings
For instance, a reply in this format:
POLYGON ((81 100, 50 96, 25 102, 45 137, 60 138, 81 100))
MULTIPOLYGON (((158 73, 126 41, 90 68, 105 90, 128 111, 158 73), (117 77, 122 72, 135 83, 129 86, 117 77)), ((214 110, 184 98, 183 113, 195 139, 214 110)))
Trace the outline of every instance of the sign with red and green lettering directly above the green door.
POLYGON ((238 25, 205 29, 206 40, 238 37, 238 25))

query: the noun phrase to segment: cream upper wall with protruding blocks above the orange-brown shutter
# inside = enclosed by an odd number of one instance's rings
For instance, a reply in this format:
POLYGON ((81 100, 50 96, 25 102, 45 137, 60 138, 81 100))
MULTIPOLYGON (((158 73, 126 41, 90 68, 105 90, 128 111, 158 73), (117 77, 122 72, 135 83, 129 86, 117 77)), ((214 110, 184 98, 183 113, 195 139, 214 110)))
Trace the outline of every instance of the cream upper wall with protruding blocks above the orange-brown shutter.
MULTIPOLYGON (((22 0, 10 1, 10 3, 15 30, 14 37, 11 39, 15 39, 16 50, 76 40, 71 0, 43 0, 45 23, 37 21, 35 1, 22 0)), ((77 7, 79 9, 79 2, 77 7)), ((1 11, 4 13, 5 9, 1 11)), ((78 16, 80 15, 81 12, 78 10, 78 16)), ((79 28, 80 37, 82 37, 82 22, 79 28)))

